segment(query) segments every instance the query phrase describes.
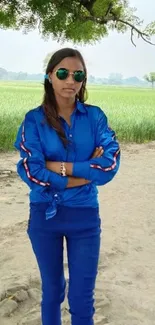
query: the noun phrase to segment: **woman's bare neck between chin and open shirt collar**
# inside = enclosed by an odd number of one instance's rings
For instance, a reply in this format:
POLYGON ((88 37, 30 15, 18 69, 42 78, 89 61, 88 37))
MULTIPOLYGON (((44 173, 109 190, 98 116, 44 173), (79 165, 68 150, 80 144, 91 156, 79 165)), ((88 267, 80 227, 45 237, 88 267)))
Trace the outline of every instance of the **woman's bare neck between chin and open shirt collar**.
POLYGON ((56 96, 59 114, 72 114, 75 108, 75 98, 62 98, 56 96))

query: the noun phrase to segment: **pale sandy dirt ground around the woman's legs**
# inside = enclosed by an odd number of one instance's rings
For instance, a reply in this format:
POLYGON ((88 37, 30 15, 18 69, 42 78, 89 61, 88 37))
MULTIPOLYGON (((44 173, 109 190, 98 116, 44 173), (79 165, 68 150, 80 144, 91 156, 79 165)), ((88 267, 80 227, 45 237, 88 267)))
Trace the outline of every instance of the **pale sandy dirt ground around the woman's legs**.
MULTIPOLYGON (((17 160, 17 153, 0 155, 0 325, 39 325, 40 278, 26 234, 28 188, 15 173, 17 160)), ((155 142, 122 145, 119 173, 100 188, 95 325, 155 324, 154 166, 155 142)), ((65 268, 67 276, 66 261, 65 268)), ((67 301, 62 315, 69 325, 67 301)))

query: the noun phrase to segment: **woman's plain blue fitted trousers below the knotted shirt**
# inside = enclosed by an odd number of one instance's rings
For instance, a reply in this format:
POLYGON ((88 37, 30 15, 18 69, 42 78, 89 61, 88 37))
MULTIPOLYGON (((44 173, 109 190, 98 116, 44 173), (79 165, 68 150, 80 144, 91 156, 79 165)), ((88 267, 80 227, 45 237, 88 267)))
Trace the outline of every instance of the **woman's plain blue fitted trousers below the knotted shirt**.
POLYGON ((43 325, 61 325, 61 303, 66 281, 63 242, 66 239, 72 325, 93 325, 94 289, 100 250, 98 208, 59 206, 54 218, 46 220, 48 203, 30 203, 27 233, 41 275, 43 325))

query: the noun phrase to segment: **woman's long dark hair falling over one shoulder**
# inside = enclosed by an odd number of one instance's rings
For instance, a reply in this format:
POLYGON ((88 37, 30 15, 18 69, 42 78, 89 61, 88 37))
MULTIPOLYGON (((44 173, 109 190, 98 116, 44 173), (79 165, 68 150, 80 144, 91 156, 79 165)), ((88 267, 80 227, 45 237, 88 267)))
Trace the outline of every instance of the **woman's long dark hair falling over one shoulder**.
MULTIPOLYGON (((83 81, 82 87, 79 93, 76 95, 76 100, 79 100, 80 102, 84 103, 87 99, 87 90, 86 90, 87 69, 86 69, 84 59, 78 50, 72 48, 63 48, 55 52, 48 62, 46 68, 46 74, 52 72, 55 66, 59 64, 66 57, 77 57, 78 59, 80 59, 83 65, 83 69, 86 73, 86 79, 83 81)), ((60 119, 58 117, 58 107, 57 107, 57 102, 54 94, 54 89, 48 79, 45 79, 44 81, 44 90, 45 93, 44 93, 42 105, 44 108, 47 123, 56 130, 64 146, 66 147, 68 141, 66 139, 64 130, 61 126, 60 119)))

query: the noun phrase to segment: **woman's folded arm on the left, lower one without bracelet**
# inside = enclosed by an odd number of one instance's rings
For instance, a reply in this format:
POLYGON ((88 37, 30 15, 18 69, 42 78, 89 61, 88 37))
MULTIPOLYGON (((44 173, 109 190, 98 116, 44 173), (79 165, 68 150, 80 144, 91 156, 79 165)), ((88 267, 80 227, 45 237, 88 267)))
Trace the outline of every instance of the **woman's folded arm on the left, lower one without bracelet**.
POLYGON ((81 177, 62 177, 59 173, 47 168, 32 111, 25 115, 14 146, 20 152, 21 157, 17 163, 17 172, 30 189, 43 191, 45 187, 49 187, 64 190, 89 183, 81 177))

